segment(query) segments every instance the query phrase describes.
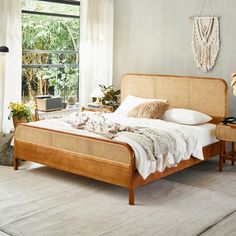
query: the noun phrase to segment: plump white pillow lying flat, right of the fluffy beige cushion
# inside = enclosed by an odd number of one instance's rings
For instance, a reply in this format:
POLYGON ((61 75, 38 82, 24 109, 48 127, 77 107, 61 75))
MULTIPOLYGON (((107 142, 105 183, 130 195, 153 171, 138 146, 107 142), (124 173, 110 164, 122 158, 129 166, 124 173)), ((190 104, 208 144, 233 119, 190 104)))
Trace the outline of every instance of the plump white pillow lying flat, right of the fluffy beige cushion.
POLYGON ((184 125, 199 125, 212 120, 210 116, 204 113, 183 108, 168 109, 162 116, 162 119, 184 125))

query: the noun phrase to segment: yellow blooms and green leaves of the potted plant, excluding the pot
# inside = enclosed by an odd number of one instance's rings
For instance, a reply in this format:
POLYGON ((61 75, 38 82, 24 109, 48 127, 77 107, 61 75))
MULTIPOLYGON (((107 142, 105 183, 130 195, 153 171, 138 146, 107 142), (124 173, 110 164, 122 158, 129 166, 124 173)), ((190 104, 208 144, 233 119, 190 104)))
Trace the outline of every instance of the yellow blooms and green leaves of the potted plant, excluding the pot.
POLYGON ((30 104, 22 104, 18 102, 11 102, 8 106, 8 109, 10 109, 10 114, 8 116, 8 119, 10 120, 11 117, 17 116, 19 120, 22 119, 22 117, 26 117, 26 120, 28 122, 32 119, 32 105, 30 104))

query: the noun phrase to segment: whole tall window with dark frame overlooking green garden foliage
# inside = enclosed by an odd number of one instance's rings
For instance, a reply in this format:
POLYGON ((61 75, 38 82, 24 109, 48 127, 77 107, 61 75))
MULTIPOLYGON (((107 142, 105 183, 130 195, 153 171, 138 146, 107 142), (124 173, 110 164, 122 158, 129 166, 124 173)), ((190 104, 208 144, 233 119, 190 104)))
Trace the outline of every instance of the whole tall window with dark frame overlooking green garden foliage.
POLYGON ((79 1, 22 0, 22 98, 78 98, 79 1))

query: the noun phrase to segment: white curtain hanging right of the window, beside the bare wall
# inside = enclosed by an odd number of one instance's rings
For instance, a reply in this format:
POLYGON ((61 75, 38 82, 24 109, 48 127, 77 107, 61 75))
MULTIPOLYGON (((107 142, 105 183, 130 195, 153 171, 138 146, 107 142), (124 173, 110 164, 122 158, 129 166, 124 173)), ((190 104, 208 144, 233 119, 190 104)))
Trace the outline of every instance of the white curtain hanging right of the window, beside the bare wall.
POLYGON ((79 93, 85 105, 98 84, 112 84, 114 2, 81 0, 80 12, 79 93))

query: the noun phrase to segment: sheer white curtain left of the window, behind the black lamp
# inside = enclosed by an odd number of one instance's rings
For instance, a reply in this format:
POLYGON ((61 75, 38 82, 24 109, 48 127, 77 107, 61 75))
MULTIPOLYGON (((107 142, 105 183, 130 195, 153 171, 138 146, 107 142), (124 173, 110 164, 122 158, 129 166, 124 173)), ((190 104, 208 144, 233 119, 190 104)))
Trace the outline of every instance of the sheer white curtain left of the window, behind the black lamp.
POLYGON ((21 100, 21 1, 1 0, 0 5, 0 46, 10 51, 0 55, 0 131, 9 133, 8 105, 21 100))

